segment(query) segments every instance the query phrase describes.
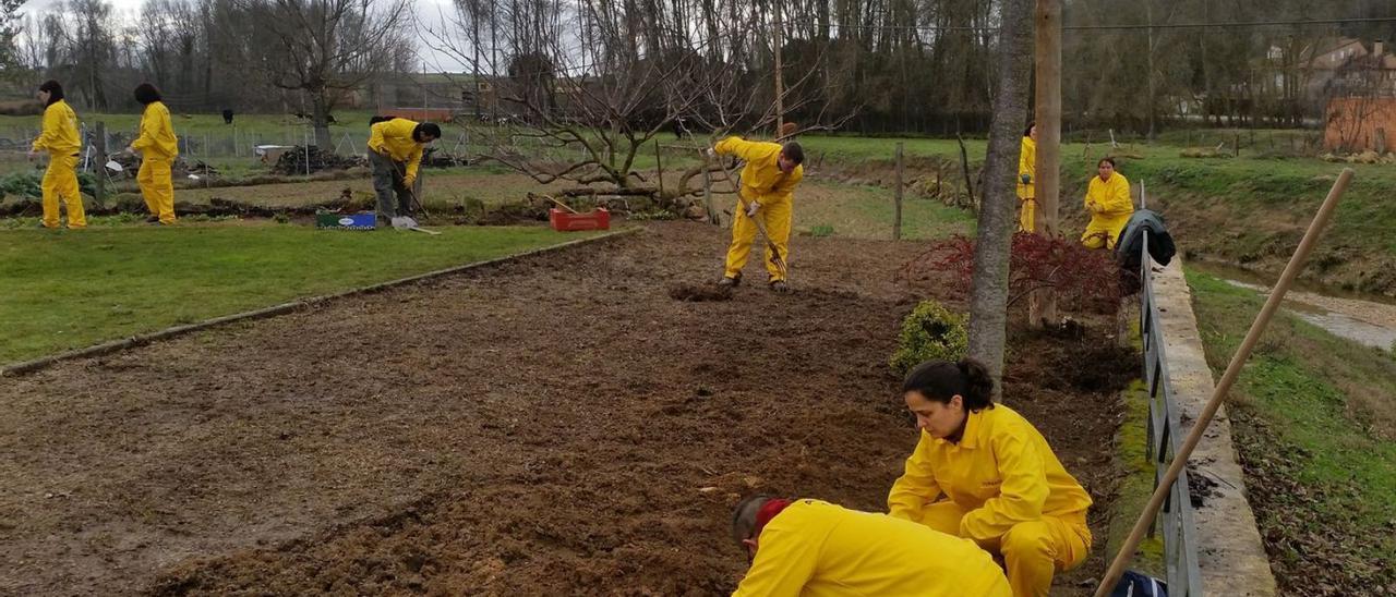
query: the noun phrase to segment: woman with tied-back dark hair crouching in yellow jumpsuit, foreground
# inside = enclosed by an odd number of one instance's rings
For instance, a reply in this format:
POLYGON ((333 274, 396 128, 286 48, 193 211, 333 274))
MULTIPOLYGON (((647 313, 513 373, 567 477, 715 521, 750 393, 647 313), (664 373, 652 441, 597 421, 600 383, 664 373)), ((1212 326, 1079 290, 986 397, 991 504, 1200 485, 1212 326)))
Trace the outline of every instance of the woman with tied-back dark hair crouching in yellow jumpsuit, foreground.
POLYGON ((1046 596, 1086 559, 1090 495, 1020 414, 991 402, 980 363, 927 361, 902 385, 921 438, 888 495, 891 516, 1004 558, 1016 597, 1046 596))

